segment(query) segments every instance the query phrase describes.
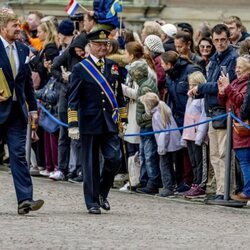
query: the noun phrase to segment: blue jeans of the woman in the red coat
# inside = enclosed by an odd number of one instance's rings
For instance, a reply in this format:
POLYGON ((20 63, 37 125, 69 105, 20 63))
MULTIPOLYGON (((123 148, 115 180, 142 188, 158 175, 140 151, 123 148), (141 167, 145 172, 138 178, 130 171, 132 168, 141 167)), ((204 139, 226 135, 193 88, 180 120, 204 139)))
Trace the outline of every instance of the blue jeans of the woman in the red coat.
POLYGON ((244 178, 243 193, 250 197, 250 148, 235 149, 244 178))

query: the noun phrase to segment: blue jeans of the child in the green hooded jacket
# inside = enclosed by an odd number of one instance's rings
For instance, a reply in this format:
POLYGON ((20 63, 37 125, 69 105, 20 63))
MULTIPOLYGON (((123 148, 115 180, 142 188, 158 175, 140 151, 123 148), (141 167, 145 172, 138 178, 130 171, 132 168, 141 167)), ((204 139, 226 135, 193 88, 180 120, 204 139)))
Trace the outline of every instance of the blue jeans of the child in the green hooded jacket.
MULTIPOLYGON (((152 131, 152 128, 141 129, 141 133, 152 131)), ((141 136, 140 143, 141 172, 140 183, 149 188, 161 186, 159 157, 154 135, 141 136)))

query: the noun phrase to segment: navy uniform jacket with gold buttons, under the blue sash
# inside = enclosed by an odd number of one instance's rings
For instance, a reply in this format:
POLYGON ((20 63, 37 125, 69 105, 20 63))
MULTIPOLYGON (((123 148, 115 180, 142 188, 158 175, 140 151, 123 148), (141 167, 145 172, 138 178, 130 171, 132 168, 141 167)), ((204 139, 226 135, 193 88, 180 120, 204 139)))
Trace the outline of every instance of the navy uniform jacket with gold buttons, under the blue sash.
MULTIPOLYGON (((91 57, 88 59, 92 62, 91 57)), ((119 107, 124 107, 121 77, 117 64, 105 59, 104 77, 116 95, 119 107), (113 65, 116 65, 115 67, 113 65)), ((104 131, 117 133, 117 124, 112 119, 112 106, 108 98, 80 63, 73 67, 70 76, 69 112, 77 112, 81 134, 102 134, 104 131)), ((70 117, 70 114, 69 114, 70 117)), ((78 121, 69 122, 69 127, 78 126, 78 121)))

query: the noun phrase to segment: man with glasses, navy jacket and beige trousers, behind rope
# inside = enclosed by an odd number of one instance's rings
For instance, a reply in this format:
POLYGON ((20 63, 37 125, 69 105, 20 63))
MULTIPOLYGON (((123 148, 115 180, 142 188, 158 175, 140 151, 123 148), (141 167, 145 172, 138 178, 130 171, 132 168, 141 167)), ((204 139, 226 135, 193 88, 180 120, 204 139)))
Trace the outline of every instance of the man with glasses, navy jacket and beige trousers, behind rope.
MULTIPOLYGON (((210 64, 207 72, 207 83, 200 84, 189 90, 189 96, 196 98, 205 98, 205 111, 208 117, 215 116, 220 109, 224 109, 217 100, 218 80, 221 76, 222 69, 228 75, 229 81, 236 78, 235 65, 238 57, 234 48, 230 46, 229 29, 224 24, 217 24, 212 29, 212 40, 216 48, 215 54, 210 58, 210 64), (224 67, 222 67, 224 66, 224 67)), ((224 110, 226 113, 226 111, 224 110)), ((222 124, 224 125, 224 124, 222 124)), ((214 127, 209 123, 209 154, 211 165, 215 172, 216 195, 214 199, 223 199, 224 195, 224 175, 226 159, 226 124, 224 128, 214 127)))

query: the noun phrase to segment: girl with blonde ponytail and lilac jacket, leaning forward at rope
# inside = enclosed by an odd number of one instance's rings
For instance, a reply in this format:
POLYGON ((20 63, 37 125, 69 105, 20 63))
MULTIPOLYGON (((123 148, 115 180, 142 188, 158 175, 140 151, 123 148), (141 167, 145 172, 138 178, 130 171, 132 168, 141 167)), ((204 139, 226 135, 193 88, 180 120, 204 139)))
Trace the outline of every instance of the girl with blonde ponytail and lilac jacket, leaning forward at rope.
MULTIPOLYGON (((154 131, 165 129, 176 129, 177 125, 172 116, 171 109, 159 97, 152 92, 148 92, 140 97, 140 101, 145 107, 148 115, 152 115, 152 127, 154 131)), ((161 132, 155 134, 157 151, 160 156, 160 171, 163 189, 159 196, 167 197, 174 194, 173 180, 173 152, 181 149, 181 134, 179 130, 161 132)))

